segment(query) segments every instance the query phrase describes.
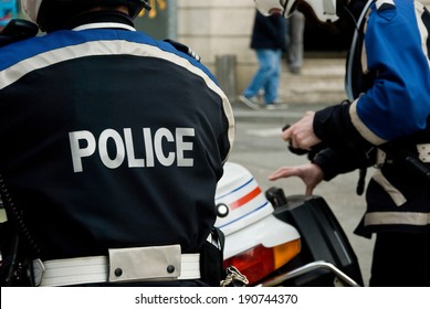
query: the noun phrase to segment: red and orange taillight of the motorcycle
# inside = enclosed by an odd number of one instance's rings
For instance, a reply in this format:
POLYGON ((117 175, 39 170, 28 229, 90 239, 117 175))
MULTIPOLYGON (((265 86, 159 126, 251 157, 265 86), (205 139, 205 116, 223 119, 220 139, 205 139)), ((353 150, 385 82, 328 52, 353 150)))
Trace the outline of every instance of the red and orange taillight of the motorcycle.
POLYGON ((300 239, 270 248, 259 245, 226 259, 223 265, 224 268, 230 265, 237 267, 252 285, 285 265, 300 251, 300 239))

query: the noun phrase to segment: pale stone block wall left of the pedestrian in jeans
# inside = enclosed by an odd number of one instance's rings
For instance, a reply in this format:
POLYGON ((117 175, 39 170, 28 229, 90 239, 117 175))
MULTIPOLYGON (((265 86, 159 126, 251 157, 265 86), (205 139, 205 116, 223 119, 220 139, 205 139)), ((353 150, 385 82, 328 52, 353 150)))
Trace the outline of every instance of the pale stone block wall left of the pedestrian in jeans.
POLYGON ((238 90, 255 72, 256 58, 250 50, 254 18, 253 0, 178 0, 178 41, 188 44, 212 72, 216 58, 234 55, 238 90))

